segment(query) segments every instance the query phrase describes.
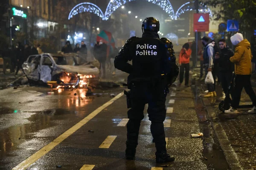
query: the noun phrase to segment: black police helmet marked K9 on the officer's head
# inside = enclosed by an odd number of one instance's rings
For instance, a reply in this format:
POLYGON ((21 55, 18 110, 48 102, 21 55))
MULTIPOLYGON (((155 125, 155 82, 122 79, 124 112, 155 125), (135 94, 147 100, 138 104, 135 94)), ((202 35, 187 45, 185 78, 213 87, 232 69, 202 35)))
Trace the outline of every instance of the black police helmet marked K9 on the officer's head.
POLYGON ((159 20, 157 20, 154 17, 148 17, 145 18, 142 23, 142 31, 153 31, 158 32, 160 30, 160 23, 159 20))

